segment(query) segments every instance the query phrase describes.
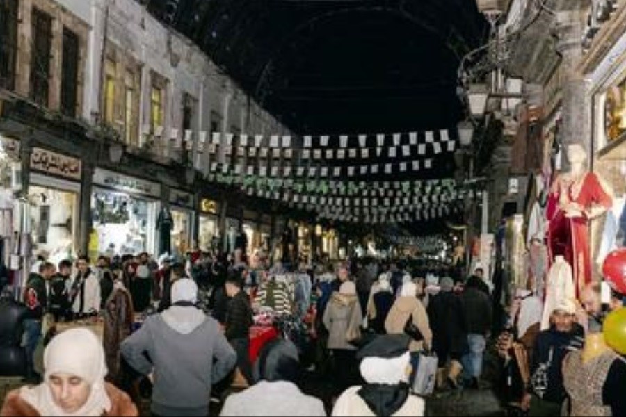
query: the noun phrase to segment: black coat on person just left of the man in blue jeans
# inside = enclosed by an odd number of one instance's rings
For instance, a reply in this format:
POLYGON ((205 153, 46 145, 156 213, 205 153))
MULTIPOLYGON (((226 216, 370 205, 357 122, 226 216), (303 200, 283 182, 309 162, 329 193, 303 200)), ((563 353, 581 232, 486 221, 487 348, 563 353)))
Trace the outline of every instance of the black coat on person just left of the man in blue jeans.
POLYGON ((467 351, 467 322, 460 297, 451 292, 441 292, 431 298, 426 311, 433 331, 435 352, 465 353, 467 351))

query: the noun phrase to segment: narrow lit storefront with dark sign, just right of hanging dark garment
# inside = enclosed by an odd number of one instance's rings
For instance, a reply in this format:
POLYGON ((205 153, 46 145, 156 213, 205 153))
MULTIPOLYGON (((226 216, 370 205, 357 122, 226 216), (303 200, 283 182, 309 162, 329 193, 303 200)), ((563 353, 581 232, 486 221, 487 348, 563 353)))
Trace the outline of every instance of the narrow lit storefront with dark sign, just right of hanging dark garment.
POLYGON ((184 255, 193 236, 193 195, 183 190, 170 190, 172 213, 172 253, 184 255))

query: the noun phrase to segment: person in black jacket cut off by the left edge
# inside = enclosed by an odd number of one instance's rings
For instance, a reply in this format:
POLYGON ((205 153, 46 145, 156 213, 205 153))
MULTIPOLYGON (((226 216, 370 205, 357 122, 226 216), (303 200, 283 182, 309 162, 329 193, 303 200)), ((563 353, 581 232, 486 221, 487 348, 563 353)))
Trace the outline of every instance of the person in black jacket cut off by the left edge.
POLYGON ((13 291, 5 286, 0 293, 0 375, 24 377, 26 352, 22 347, 24 320, 29 310, 13 299, 13 291))

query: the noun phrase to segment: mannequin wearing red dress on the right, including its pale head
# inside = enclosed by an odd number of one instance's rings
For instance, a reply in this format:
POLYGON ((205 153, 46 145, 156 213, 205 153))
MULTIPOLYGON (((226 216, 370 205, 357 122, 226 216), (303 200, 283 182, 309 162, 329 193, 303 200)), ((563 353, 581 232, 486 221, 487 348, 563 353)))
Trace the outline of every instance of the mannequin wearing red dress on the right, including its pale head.
POLYGON ((551 259, 565 256, 572 265, 576 296, 591 281, 589 220, 611 208, 613 199, 597 175, 585 167, 587 154, 581 145, 568 147, 571 170, 559 175, 552 186, 558 198, 556 213, 549 218, 548 242, 551 259))

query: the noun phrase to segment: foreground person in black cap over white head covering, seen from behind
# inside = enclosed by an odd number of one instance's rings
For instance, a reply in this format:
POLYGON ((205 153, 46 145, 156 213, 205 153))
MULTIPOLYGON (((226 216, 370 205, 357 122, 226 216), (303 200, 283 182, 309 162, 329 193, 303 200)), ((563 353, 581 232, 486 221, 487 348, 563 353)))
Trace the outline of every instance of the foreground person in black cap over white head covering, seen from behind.
POLYGON ((348 388, 335 402, 332 416, 424 416, 424 400, 410 393, 410 338, 377 336, 357 354, 366 384, 348 388))

